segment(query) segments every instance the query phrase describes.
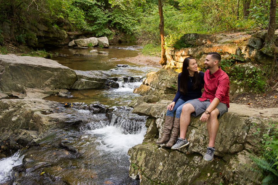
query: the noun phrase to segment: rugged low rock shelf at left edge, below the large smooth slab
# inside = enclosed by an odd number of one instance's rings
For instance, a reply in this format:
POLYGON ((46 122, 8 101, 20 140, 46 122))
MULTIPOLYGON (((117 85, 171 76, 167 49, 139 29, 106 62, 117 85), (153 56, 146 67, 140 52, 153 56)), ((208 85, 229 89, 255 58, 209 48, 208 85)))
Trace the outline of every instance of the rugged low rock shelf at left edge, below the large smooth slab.
MULTIPOLYGON (((79 107, 80 105, 75 103, 59 103, 37 98, 0 100, 1 153, 6 156, 13 155, 17 150, 35 144, 54 128, 71 125, 78 127, 87 123, 91 115, 88 114, 86 117, 81 114, 77 110, 79 107)), ((89 105, 87 109, 94 113, 110 112, 109 108, 102 105, 89 105)))

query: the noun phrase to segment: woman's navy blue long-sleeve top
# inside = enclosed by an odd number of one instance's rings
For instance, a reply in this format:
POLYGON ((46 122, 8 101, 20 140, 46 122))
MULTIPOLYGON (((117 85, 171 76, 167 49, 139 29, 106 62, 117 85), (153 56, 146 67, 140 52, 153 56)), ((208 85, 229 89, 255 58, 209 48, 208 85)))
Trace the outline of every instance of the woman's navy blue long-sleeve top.
POLYGON ((187 94, 182 94, 180 92, 180 80, 181 80, 182 73, 180 73, 178 75, 178 91, 176 93, 176 96, 175 96, 173 102, 177 102, 178 99, 182 99, 184 101, 193 100, 193 99, 196 99, 196 98, 200 98, 202 96, 202 86, 204 86, 204 72, 200 71, 198 74, 200 76, 200 83, 202 85, 199 85, 199 87, 197 89, 193 90, 192 89, 193 88, 193 82, 191 82, 191 79, 189 77, 188 81, 187 81, 187 94))

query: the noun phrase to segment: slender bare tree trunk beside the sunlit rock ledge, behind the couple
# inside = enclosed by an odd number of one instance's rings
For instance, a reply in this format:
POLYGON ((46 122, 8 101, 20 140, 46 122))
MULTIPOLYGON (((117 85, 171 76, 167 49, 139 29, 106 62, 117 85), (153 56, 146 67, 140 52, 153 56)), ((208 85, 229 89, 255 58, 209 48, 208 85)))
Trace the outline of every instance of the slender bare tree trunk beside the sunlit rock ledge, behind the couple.
POLYGON ((162 0, 158 0, 158 12, 159 12, 159 18, 160 18, 160 23, 159 23, 159 32, 160 32, 160 37, 161 37, 161 59, 159 63, 163 66, 167 64, 167 58, 165 55, 165 48, 164 48, 164 17, 163 17, 163 11, 162 11, 162 0))

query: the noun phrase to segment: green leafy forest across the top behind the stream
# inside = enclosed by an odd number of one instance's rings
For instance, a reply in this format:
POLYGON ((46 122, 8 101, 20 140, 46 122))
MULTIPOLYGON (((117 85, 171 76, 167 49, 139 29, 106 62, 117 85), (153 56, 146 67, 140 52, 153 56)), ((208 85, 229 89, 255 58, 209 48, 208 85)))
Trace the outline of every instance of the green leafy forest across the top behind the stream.
MULTIPOLYGON (((162 3, 168 43, 185 33, 256 32, 268 28, 270 1, 267 0, 164 0, 162 3)), ((14 31, 9 41, 15 45, 32 37, 25 31, 26 24, 44 24, 108 39, 117 35, 122 41, 144 45, 143 52, 160 56, 159 20, 157 0, 0 0, 0 23, 9 23, 14 31)), ((1 32, 0 44, 5 39, 1 32)))

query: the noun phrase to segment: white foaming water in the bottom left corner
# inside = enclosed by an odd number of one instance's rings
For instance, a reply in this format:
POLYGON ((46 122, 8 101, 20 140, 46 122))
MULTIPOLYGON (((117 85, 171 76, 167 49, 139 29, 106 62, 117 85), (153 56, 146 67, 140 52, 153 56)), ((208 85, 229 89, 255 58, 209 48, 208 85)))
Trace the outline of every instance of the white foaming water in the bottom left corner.
POLYGON ((24 155, 20 156, 19 152, 11 157, 0 160, 0 184, 6 182, 12 177, 12 168, 22 164, 24 155))

